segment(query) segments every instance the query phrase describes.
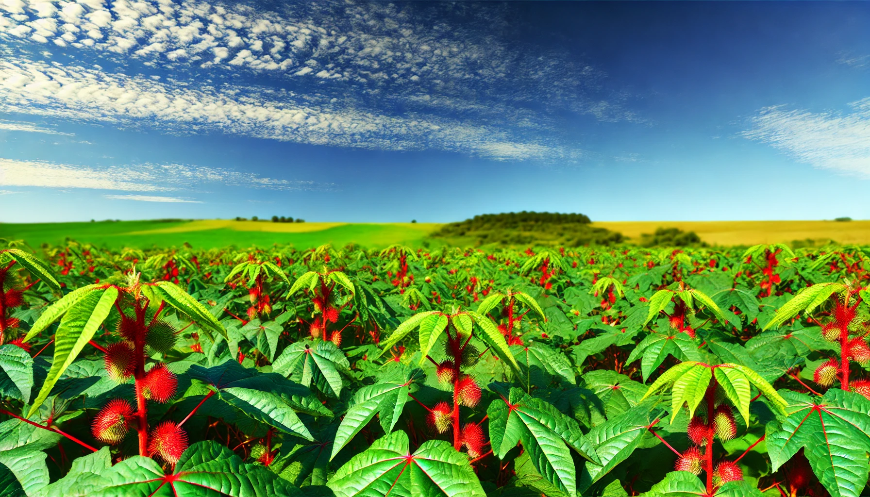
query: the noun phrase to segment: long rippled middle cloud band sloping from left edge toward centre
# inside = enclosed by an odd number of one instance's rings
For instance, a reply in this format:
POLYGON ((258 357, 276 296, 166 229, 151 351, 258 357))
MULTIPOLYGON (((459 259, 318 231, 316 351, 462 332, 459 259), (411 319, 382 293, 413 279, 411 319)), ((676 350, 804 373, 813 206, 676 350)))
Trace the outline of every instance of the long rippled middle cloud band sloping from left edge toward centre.
POLYGON ((520 142, 498 127, 456 119, 313 104, 305 95, 256 88, 159 82, 77 65, 0 59, 0 111, 150 125, 179 133, 220 131, 256 138, 379 150, 460 151, 489 158, 564 160, 576 147, 520 142))

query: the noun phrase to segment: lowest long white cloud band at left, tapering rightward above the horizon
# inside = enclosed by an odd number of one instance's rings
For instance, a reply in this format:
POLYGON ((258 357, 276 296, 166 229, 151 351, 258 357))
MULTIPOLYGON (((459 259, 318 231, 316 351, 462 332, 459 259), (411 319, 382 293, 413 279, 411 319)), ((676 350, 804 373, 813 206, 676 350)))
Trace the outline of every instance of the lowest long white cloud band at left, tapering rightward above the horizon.
POLYGON ((120 191, 179 191, 221 184, 269 190, 331 190, 335 185, 264 178, 251 172, 180 164, 113 167, 0 158, 0 185, 120 191))

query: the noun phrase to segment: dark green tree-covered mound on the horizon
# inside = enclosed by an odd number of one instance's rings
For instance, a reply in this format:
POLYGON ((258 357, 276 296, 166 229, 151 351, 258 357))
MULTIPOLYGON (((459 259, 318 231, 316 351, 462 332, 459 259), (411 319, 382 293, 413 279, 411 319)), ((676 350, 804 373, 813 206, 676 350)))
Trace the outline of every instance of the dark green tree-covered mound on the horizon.
POLYGON ((621 233, 591 226, 585 214, 507 212, 483 214, 442 226, 432 238, 454 245, 613 245, 625 241, 621 233))

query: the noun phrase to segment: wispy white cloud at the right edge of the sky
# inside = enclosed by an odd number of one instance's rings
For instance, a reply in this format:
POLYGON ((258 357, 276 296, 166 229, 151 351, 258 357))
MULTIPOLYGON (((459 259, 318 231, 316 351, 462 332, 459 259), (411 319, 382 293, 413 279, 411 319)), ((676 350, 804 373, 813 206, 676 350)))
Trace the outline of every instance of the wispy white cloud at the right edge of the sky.
POLYGON ((870 178, 870 97, 849 106, 847 112, 767 107, 742 136, 814 167, 870 178))

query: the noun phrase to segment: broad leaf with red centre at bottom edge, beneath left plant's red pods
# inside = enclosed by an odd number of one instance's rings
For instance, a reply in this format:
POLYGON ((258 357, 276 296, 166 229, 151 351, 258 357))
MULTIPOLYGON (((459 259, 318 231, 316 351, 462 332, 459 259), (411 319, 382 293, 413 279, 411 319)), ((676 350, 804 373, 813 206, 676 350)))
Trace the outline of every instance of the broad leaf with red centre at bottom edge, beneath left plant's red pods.
POLYGON ((217 442, 193 444, 174 471, 133 456, 99 475, 91 497, 298 497, 299 490, 262 466, 244 464, 217 442))

